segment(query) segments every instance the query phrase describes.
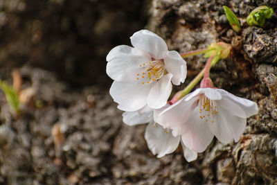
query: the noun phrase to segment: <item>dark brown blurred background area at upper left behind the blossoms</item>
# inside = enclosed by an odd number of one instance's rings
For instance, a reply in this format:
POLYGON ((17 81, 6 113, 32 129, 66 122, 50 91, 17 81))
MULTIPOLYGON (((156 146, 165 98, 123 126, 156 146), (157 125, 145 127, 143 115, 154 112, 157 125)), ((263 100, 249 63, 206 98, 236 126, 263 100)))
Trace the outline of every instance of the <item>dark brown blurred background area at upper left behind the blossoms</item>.
POLYGON ((0 78, 26 64, 107 85, 105 56, 147 23, 147 1, 0 0, 0 78))

